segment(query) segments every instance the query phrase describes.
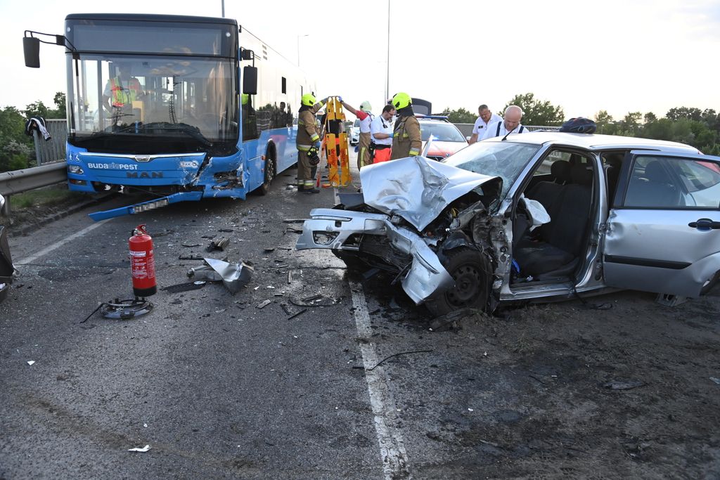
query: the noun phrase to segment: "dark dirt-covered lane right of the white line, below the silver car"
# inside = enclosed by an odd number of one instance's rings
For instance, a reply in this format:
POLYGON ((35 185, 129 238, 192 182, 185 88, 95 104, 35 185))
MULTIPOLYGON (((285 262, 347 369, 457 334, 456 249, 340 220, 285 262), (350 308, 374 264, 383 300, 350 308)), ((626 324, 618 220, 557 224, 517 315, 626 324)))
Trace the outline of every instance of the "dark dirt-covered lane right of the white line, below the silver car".
POLYGON ((719 478, 720 288, 675 307, 654 299, 626 291, 434 324, 399 314, 433 348, 391 373, 420 397, 398 404, 404 419, 436 424, 414 441, 437 458, 408 448, 415 476, 719 478))

